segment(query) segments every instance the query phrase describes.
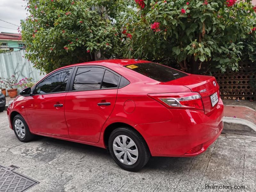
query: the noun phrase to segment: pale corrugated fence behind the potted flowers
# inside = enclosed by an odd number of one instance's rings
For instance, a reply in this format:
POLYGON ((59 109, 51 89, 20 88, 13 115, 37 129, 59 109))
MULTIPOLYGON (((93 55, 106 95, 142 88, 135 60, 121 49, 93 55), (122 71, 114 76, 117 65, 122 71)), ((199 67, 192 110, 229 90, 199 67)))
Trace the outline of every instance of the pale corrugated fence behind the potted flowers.
POLYGON ((32 77, 33 81, 43 78, 44 75, 40 75, 40 70, 33 68, 33 64, 22 57, 25 54, 25 50, 0 53, 0 77, 15 75, 17 82, 25 77, 32 77))

